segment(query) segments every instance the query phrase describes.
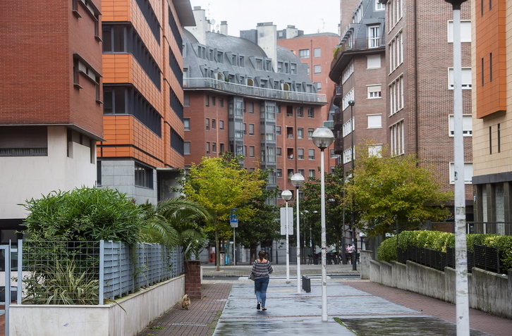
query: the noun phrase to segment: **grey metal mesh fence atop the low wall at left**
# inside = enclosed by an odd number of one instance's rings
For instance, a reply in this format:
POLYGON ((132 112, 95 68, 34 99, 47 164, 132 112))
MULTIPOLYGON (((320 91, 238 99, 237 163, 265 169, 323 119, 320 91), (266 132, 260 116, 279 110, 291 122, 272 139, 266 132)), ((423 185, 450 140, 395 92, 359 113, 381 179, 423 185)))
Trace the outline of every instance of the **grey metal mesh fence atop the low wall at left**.
POLYGON ((179 250, 160 244, 130 248, 121 242, 20 240, 18 292, 23 286, 23 302, 32 304, 104 304, 183 274, 179 250))

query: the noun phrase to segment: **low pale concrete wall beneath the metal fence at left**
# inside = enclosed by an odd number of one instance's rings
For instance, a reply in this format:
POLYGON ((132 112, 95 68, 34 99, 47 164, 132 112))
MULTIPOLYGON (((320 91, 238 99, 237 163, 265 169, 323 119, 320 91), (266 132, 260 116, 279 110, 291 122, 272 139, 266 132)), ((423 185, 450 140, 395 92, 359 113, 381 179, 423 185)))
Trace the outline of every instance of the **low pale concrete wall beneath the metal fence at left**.
POLYGON ((180 301, 184 292, 185 276, 181 275, 117 300, 115 304, 13 304, 9 335, 134 336, 180 301))

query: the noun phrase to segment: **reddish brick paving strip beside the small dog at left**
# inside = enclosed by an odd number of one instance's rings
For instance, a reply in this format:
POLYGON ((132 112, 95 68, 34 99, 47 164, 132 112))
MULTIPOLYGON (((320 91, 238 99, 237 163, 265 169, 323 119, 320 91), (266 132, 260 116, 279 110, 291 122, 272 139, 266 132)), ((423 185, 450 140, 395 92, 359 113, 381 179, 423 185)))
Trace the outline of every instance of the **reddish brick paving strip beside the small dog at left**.
POLYGON ((192 299, 185 310, 176 304, 154 320, 138 336, 209 336, 212 335, 231 292, 231 283, 205 283, 201 299, 192 299))

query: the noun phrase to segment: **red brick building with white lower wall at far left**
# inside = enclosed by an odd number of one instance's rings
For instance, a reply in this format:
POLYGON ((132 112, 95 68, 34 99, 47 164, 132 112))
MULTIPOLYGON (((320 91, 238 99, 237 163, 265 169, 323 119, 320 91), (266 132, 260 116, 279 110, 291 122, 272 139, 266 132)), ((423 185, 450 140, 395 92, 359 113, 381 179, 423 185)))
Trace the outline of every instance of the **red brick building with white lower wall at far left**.
POLYGON ((2 4, 0 232, 16 240, 25 200, 92 187, 103 140, 99 0, 2 4))

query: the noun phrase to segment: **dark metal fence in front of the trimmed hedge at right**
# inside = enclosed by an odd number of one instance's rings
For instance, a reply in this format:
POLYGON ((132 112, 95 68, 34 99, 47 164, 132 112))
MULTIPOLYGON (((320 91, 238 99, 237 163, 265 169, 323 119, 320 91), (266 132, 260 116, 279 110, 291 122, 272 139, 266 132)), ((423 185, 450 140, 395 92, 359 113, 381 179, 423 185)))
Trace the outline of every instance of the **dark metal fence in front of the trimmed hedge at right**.
MULTIPOLYGON (((407 249, 398 248, 398 262, 414 261, 421 265, 444 270, 446 266, 455 268, 455 249, 446 248, 446 252, 425 249, 424 247, 409 246, 407 249)), ((501 258, 498 249, 482 245, 474 245, 473 251, 468 251, 468 272, 471 273, 473 267, 482 270, 489 270, 494 273, 506 273, 506 269, 501 265, 501 258)))

